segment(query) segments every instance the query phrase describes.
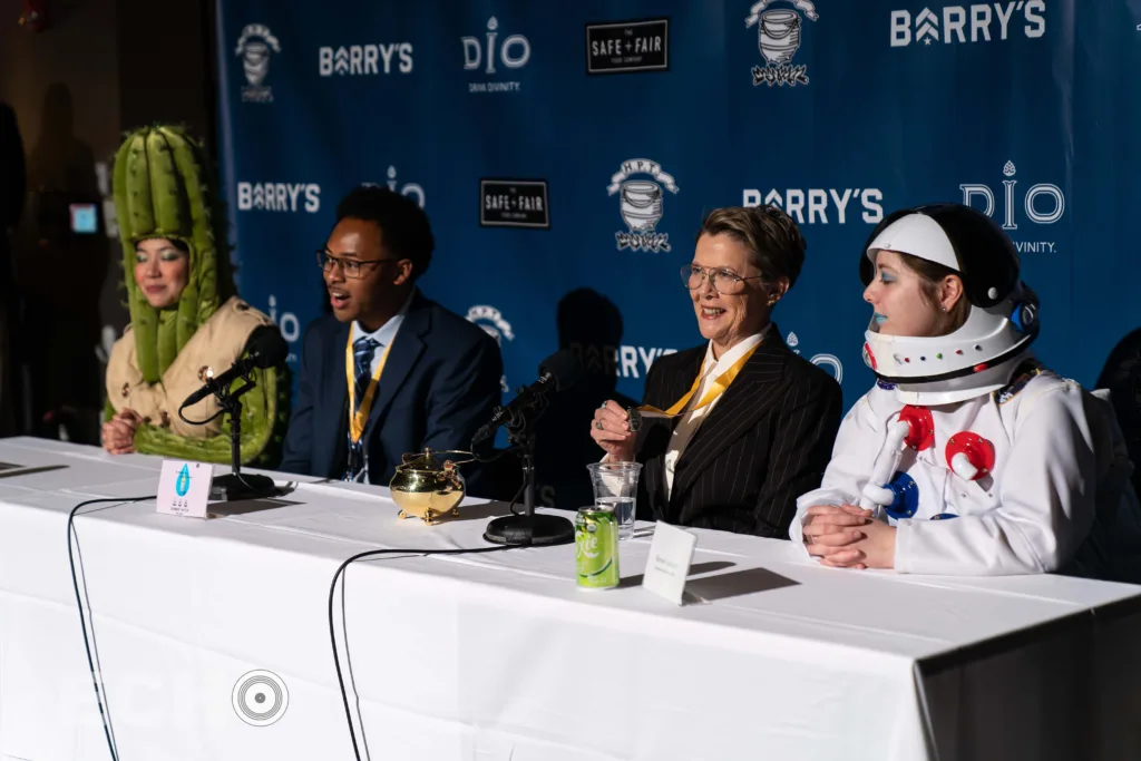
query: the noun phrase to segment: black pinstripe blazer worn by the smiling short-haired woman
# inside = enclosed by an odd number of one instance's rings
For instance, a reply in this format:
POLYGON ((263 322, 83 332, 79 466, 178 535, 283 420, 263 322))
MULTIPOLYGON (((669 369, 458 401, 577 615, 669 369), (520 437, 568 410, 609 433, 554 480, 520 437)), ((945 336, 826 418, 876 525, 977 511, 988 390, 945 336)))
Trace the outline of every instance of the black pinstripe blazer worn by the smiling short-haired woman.
MULTIPOLYGON (((644 404, 665 410, 689 390, 707 345, 657 359, 644 404)), ((696 528, 788 537, 796 497, 819 487, 840 428, 840 384, 793 354, 776 325, 705 416, 665 497, 665 452, 675 420, 638 432, 638 517, 696 528)))

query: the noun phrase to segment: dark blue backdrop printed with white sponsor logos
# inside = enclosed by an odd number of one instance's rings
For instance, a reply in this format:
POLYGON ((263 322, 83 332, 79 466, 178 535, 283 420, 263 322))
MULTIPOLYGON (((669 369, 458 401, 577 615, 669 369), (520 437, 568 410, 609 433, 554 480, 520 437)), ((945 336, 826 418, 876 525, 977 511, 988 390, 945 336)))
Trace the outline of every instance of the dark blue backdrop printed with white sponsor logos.
POLYGON ((722 205, 801 225, 775 321, 845 405, 872 382, 861 245, 903 205, 1001 220, 1042 298, 1039 356, 1086 386, 1141 323, 1138 0, 219 0, 218 18, 241 291, 291 361, 324 309, 313 252, 359 183, 424 208, 422 289, 496 337, 504 389, 573 347, 591 395, 640 398, 657 357, 702 342, 678 269, 722 205))

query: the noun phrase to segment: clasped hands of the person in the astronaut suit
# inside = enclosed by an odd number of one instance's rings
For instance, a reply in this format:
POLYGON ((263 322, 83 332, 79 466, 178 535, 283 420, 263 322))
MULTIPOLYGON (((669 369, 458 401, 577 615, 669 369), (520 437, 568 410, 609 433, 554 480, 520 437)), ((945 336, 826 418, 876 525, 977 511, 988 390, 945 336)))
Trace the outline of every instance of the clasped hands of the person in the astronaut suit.
POLYGON ((831 568, 892 568, 896 528, 853 504, 816 504, 802 526, 808 553, 831 568))

